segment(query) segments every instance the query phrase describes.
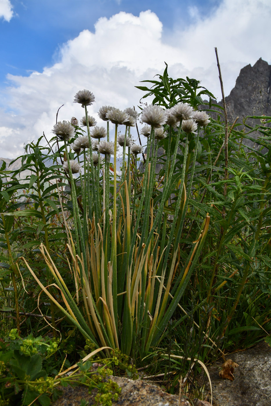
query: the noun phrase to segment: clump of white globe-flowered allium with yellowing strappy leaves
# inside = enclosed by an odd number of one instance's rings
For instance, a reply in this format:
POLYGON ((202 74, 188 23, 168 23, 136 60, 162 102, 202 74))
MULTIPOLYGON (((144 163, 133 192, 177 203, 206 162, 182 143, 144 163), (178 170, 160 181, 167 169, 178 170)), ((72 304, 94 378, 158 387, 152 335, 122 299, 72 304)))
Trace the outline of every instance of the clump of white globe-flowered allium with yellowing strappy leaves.
POLYGON ((142 146, 133 144, 130 137, 130 127, 135 124, 138 113, 131 108, 121 111, 103 106, 98 115, 115 124, 114 142, 99 140, 94 147, 91 136, 100 139, 107 135, 103 127, 94 127, 90 132, 92 118, 87 114, 87 106, 94 102, 94 95, 87 90, 80 91, 76 93, 74 101, 85 108, 85 119, 82 122, 85 120, 87 127, 87 136, 79 135, 71 145, 72 148, 76 146, 82 149, 81 153, 77 153, 78 162, 72 159, 67 143, 74 136, 74 127, 66 122, 58 123, 53 132, 64 141, 67 161, 63 168, 69 175, 71 185, 74 221, 73 229, 70 230, 72 241, 67 244, 67 248, 77 302, 43 245, 40 251, 65 298, 66 307, 50 296, 32 270, 31 273, 69 322, 96 348, 103 347, 105 354, 108 354, 108 348, 120 348, 126 354, 136 356, 140 353, 143 356, 163 335, 195 269, 208 231, 210 218, 206 216, 198 229, 196 241, 181 265, 179 244, 188 209, 188 199, 185 197, 192 193, 199 131, 193 140, 195 146, 192 158, 191 153, 188 153, 188 138, 191 142, 191 134, 189 137, 186 135, 187 126, 184 126, 183 120, 191 122, 189 128, 193 138, 197 129, 195 121, 190 119, 193 109, 179 103, 170 108, 168 113, 155 104, 147 106, 140 115, 140 120, 146 123, 141 134, 148 137, 146 162, 144 168, 141 164, 140 169, 137 157, 142 152, 142 146), (169 117, 173 119, 168 130, 169 117), (176 124, 176 121, 179 125, 177 133, 174 132, 173 143, 171 124, 176 124), (125 125, 125 134, 121 136, 117 136, 119 125, 125 125), (164 140, 168 152, 164 177, 160 180, 163 187, 157 189, 155 168, 158 143, 164 140), (122 147, 120 177, 116 169, 118 145, 122 147), (175 162, 180 147, 183 150, 182 164, 176 176, 175 162), (93 150, 97 150, 98 154, 93 154, 93 150), (135 158, 132 162, 130 152, 135 158), (102 163, 100 154, 107 158, 102 163), (113 166, 109 162, 110 155, 114 157, 113 166), (186 176, 188 157, 192 162, 189 182, 186 176), (79 199, 72 175, 80 171, 81 162, 83 170, 80 173, 79 199), (138 180, 138 171, 143 175, 142 180, 138 180), (168 223, 166 207, 173 190, 176 200, 172 219, 168 223), (174 278, 176 267, 181 268, 177 279, 174 278), (79 303, 83 304, 83 308, 79 303))

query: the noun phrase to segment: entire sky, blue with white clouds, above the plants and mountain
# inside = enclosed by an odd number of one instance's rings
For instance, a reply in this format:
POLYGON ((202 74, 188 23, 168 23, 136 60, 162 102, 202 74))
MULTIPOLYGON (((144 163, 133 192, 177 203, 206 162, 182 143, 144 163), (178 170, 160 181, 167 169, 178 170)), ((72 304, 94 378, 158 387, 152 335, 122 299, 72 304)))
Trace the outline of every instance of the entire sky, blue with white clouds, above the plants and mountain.
MULTIPOLYGON (((137 106, 140 80, 168 63, 173 78, 201 80, 220 100, 240 69, 271 64, 270 0, 0 0, 0 157, 15 158, 55 114, 80 119, 74 94, 89 89, 98 109, 137 106)), ((133 135, 133 134, 132 134, 133 135)))

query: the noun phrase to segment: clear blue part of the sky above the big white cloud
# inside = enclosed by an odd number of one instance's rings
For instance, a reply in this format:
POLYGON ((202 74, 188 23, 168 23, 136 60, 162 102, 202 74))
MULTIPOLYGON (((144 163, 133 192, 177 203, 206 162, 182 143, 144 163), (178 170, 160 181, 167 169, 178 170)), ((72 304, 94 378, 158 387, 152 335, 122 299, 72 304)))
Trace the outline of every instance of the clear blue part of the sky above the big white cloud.
POLYGON ((150 9, 163 23, 164 34, 173 26, 186 27, 193 22, 192 9, 202 16, 213 13, 219 1, 186 0, 11 0, 13 17, 1 21, 0 81, 7 73, 28 75, 42 71, 58 59, 59 47, 88 29, 100 17, 120 11, 138 16, 150 9), (189 12, 190 11, 190 12, 189 12))

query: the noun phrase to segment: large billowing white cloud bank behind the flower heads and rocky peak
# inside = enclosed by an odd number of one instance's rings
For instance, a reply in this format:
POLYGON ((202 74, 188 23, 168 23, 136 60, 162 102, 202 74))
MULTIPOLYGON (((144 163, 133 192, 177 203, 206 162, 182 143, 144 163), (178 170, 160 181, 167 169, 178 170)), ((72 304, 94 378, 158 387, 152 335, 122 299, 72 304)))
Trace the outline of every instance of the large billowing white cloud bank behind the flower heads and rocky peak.
POLYGON ((98 125, 105 125, 98 118, 98 109, 105 104, 120 109, 137 106, 144 93, 134 86, 161 74, 164 61, 170 76, 201 80, 218 99, 215 46, 226 95, 240 68, 253 65, 260 57, 270 63, 270 37, 263 34, 269 32, 269 0, 224 0, 208 17, 201 17, 198 10, 193 13, 194 24, 185 30, 174 26, 166 35, 151 11, 139 16, 120 12, 109 19, 102 17, 94 32, 83 30, 63 44, 52 67, 28 77, 9 75, 9 87, 1 95, 6 111, 0 110, 0 155, 13 158, 22 154, 22 144, 36 140, 43 131, 50 138, 62 104, 59 120, 81 119, 84 110, 73 103, 81 89, 94 93, 96 102, 88 112, 98 125), (256 21, 261 21, 260 28, 256 21))

